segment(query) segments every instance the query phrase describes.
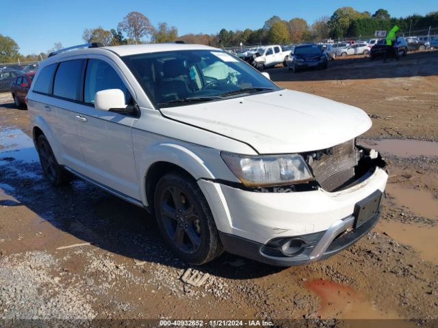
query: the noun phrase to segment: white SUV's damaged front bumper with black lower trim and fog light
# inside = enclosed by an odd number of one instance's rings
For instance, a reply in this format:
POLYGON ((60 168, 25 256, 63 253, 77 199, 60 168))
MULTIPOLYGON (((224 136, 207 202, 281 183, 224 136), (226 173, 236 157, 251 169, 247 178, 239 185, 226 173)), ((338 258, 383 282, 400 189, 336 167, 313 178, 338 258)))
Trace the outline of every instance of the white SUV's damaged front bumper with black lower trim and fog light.
POLYGON ((358 241, 378 221, 388 177, 379 154, 358 149, 355 181, 331 192, 321 187, 255 192, 198 180, 224 249, 259 262, 292 266, 328 258, 358 241), (358 213, 362 205, 371 208, 365 219, 358 213))

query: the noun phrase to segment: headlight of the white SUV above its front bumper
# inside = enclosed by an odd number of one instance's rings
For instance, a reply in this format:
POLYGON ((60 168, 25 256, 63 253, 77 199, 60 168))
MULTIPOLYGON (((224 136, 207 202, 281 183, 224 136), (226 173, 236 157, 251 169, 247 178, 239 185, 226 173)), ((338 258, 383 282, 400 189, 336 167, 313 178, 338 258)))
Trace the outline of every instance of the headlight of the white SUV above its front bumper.
POLYGON ((298 154, 248 156, 220 152, 220 156, 246 187, 279 186, 313 180, 309 167, 298 154))

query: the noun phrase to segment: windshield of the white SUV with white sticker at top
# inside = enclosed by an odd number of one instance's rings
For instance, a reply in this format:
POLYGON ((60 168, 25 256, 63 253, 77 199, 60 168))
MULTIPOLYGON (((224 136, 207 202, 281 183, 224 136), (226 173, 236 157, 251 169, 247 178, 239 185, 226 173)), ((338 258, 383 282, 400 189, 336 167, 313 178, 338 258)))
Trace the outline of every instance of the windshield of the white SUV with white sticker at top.
POLYGON ((144 53, 123 61, 157 107, 279 90, 257 70, 223 51, 144 53))

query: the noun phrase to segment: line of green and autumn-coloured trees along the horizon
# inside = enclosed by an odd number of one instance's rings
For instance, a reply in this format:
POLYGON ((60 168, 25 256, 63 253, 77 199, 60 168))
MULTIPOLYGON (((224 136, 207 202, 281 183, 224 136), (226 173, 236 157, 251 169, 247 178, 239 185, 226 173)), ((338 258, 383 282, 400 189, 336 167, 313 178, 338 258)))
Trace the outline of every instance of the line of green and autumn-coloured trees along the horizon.
MULTIPOLYGON (((238 29, 235 31, 221 29, 218 33, 188 33, 179 36, 177 27, 167 23, 158 23, 154 27, 146 16, 140 12, 129 12, 114 29, 93 27, 84 29, 82 38, 85 42, 100 42, 104 45, 140 44, 174 42, 206 44, 209 46, 227 47, 242 44, 289 44, 311 41, 322 41, 329 38, 368 37, 374 31, 388 31, 394 25, 400 31, 426 30, 428 27, 438 27, 438 12, 430 12, 424 16, 413 14, 407 17, 394 18, 385 9, 379 9, 374 14, 358 12, 352 7, 338 8, 331 16, 322 16, 311 25, 305 19, 295 17, 283 20, 272 16, 259 29, 238 29)), ((51 51, 61 49, 57 42, 53 49, 45 53, 21 55, 16 42, 0 34, 0 63, 34 61, 47 57, 51 51)))

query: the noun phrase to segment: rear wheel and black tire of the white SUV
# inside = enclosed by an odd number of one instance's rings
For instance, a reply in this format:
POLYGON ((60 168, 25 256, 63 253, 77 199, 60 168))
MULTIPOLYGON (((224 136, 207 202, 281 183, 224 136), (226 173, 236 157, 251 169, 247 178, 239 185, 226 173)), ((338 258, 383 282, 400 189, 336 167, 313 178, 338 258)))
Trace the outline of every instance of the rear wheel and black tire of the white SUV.
POLYGON ((40 157, 42 171, 49 180, 50 184, 55 187, 68 184, 68 182, 71 181, 72 176, 64 169, 64 167, 57 163, 55 155, 53 154, 53 150, 46 136, 40 135, 36 145, 38 156, 40 157))

